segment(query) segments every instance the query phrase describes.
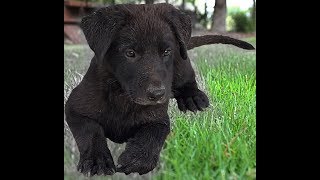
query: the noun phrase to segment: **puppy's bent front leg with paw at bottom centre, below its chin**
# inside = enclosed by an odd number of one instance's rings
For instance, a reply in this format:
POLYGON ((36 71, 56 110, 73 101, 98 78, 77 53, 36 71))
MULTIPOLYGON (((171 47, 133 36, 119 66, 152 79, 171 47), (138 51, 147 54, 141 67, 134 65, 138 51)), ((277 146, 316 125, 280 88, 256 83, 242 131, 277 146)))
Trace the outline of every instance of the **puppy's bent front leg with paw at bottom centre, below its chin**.
POLYGON ((125 151, 118 159, 117 171, 130 174, 146 174, 152 171, 159 160, 160 151, 170 132, 169 118, 161 123, 152 123, 139 129, 129 139, 125 151))

